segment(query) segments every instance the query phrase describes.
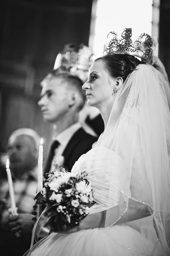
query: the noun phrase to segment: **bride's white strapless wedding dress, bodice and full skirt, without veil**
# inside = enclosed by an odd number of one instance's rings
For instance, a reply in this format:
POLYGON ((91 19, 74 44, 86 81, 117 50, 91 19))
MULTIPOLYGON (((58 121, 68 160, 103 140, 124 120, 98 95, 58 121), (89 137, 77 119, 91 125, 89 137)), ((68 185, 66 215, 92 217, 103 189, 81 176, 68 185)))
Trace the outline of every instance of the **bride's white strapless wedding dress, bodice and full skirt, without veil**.
MULTIPOLYGON (((90 214, 105 209, 108 198, 109 176, 114 164, 115 187, 122 175, 123 163, 114 151, 97 147, 82 155, 72 168, 72 172, 86 170, 88 178, 94 189, 94 204, 90 208, 90 214), (99 153, 100 152, 100 153, 99 153), (96 154, 97 153, 97 154, 96 154), (97 156, 97 157, 96 157, 97 156), (106 158, 107 156, 107 158, 106 158), (95 161, 94 161, 95 160, 95 161), (117 165, 116 163, 119 163, 117 165), (117 166, 116 166, 117 165, 117 166), (107 173, 107 176, 106 176, 107 173)), ((126 177, 124 177, 126 179, 126 177)), ((111 197, 118 202, 119 192, 112 191, 111 197)), ((109 195, 110 196, 110 195, 109 195)), ((113 203, 112 203, 113 204, 113 203)), ((159 244, 155 230, 151 239, 142 234, 138 225, 152 222, 152 216, 131 223, 114 225, 112 227, 81 230, 71 234, 52 233, 35 244, 32 256, 137 256, 154 255, 165 256, 161 244, 159 244), (152 241, 151 241, 152 240, 152 241), (156 245, 156 246, 155 246, 156 245), (153 253, 154 252, 154 253, 153 253)), ((25 255, 28 255, 27 253, 25 255)))

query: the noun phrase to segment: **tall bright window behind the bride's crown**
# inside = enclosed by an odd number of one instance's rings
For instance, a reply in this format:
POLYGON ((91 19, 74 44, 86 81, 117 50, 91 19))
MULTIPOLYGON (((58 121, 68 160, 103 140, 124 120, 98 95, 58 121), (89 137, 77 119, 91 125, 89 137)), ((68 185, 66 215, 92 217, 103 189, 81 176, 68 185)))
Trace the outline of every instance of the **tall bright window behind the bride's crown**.
POLYGON ((129 27, 134 39, 143 32, 158 37, 159 1, 93 0, 89 47, 96 58, 101 56, 110 31, 121 37, 129 27))

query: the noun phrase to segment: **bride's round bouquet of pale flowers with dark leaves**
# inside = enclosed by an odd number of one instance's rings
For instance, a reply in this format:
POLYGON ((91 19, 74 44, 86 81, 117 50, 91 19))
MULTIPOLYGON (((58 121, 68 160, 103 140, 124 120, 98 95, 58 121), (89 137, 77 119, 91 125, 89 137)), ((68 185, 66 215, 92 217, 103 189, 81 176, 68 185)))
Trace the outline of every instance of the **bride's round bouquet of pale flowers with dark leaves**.
POLYGON ((93 190, 87 173, 67 172, 62 166, 44 175, 43 189, 36 200, 36 204, 46 204, 51 229, 56 232, 64 224, 78 225, 89 214, 92 202, 93 190))

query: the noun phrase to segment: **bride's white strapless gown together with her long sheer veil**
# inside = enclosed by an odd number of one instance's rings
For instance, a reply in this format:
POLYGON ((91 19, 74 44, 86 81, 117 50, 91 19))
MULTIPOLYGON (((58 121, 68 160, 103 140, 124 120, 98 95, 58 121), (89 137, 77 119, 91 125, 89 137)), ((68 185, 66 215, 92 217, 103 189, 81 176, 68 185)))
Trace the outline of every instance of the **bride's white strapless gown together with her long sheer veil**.
POLYGON ((88 173, 96 202, 90 214, 108 209, 105 227, 52 233, 31 255, 170 256, 169 124, 169 84, 152 66, 138 65, 118 90, 97 144, 72 168, 88 173), (116 224, 129 200, 153 214, 116 224))

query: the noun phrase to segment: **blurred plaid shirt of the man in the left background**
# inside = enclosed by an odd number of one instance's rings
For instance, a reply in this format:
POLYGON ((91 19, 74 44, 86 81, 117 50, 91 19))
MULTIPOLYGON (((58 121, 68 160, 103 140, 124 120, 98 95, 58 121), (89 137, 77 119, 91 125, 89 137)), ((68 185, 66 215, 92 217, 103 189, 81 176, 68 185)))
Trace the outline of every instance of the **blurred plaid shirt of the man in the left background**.
MULTIPOLYGON (((18 213, 31 213, 37 191, 37 167, 22 179, 13 179, 13 186, 18 213)), ((3 215, 9 214, 10 203, 8 180, 4 179, 0 182, 0 212, 3 215)))

